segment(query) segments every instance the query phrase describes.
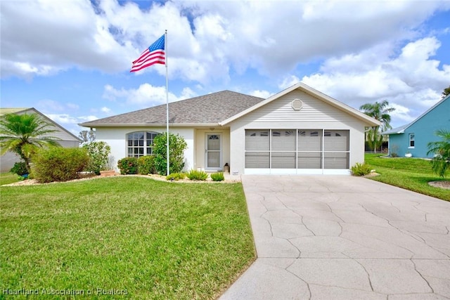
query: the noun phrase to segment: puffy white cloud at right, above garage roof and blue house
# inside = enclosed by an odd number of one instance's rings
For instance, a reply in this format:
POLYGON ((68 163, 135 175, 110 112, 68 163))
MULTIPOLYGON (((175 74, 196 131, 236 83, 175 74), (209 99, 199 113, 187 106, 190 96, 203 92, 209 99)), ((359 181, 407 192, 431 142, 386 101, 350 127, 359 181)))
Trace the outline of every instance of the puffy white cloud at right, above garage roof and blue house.
POLYGON ((394 55, 391 46, 376 46, 356 54, 326 60, 321 72, 305 76, 309 86, 358 108, 375 100, 389 100, 397 112, 393 124, 411 122, 440 100, 448 86, 450 65, 432 60, 440 43, 435 37, 406 44, 394 55), (373 53, 379 53, 374 59, 373 53))

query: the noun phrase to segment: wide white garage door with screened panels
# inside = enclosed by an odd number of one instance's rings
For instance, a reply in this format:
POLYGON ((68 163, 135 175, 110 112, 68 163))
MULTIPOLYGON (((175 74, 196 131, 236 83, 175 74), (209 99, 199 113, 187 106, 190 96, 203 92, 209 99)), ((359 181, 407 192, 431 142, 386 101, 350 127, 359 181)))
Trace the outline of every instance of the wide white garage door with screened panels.
POLYGON ((349 169, 349 131, 266 129, 245 131, 245 174, 321 174, 349 169), (253 170, 253 171, 252 171, 253 170))

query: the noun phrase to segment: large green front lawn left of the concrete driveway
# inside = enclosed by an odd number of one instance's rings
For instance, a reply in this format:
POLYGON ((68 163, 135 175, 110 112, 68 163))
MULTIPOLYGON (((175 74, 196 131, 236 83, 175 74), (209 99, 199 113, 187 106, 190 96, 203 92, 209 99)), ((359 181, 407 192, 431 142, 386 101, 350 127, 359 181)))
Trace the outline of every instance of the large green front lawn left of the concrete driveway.
POLYGON ((255 259, 240 183, 115 176, 1 187, 0 209, 0 287, 44 299, 214 299, 255 259))

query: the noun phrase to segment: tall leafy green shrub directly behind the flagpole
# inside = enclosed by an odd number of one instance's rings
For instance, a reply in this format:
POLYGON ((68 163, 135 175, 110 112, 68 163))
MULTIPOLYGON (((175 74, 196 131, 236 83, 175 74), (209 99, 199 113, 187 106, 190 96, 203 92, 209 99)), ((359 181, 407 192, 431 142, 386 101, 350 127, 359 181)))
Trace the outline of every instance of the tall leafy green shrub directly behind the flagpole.
MULTIPOLYGON (((184 167, 184 150, 188 144, 179 134, 169 133, 169 174, 179 173, 184 167)), ((167 133, 153 139, 155 169, 160 175, 167 175, 167 133)))

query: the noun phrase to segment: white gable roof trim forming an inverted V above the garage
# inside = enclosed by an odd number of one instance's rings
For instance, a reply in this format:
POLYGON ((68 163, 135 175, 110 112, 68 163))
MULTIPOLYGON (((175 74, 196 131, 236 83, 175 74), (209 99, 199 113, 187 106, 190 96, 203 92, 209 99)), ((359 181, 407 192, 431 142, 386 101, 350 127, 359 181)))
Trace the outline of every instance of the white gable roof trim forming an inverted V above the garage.
POLYGON ((379 126, 381 123, 378 122, 378 120, 373 119, 373 117, 369 117, 368 115, 364 114, 363 112, 360 112, 359 110, 355 110, 353 107, 350 107, 334 98, 331 98, 330 96, 327 96, 324 93, 321 93, 320 91, 317 91, 316 89, 311 88, 311 86, 307 86, 306 84, 299 82, 297 84, 294 84, 293 86, 290 86, 288 89, 285 89, 279 93, 276 93, 274 96, 271 96, 267 98, 266 100, 257 103, 257 105, 254 105, 252 107, 249 107, 247 110, 243 110, 239 112, 237 115, 231 116, 229 119, 224 120, 223 122, 220 122, 220 125, 226 125, 230 122, 233 122, 234 120, 243 117, 244 115, 247 115, 249 112, 252 112, 254 110, 257 110, 259 107, 262 107, 263 105, 266 105, 268 103, 271 103, 272 101, 280 98, 281 96, 284 96, 287 93, 290 93, 291 91, 294 91, 295 89, 300 89, 304 91, 305 93, 308 93, 311 96, 314 96, 314 98, 318 98, 319 100, 322 100, 325 103, 328 103, 329 105, 336 107, 338 110, 342 110, 343 112, 347 112, 349 115, 352 115, 353 117, 356 117, 357 119, 360 119, 363 122, 366 122, 368 126, 379 126))

